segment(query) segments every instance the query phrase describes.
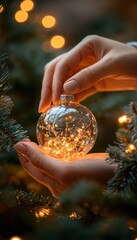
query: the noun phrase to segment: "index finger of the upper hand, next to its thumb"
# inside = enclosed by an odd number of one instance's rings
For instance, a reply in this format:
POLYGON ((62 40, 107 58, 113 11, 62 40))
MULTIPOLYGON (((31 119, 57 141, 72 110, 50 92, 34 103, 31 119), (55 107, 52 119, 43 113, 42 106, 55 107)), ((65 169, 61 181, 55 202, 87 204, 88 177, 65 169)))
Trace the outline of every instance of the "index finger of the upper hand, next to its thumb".
POLYGON ((87 59, 89 56, 92 59, 93 57, 95 58, 94 43, 91 39, 91 37, 83 39, 56 64, 52 83, 53 102, 59 101, 63 91, 63 84, 67 80, 70 70, 74 69, 82 60, 87 59))

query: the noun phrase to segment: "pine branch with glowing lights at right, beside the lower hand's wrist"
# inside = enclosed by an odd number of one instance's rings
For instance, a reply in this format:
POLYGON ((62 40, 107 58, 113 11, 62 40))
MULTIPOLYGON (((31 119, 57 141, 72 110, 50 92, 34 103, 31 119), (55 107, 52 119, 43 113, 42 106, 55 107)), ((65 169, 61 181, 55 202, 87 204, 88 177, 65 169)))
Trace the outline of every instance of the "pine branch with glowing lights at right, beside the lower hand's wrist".
POLYGON ((107 148, 107 161, 117 164, 115 175, 108 182, 108 190, 137 194, 137 109, 134 103, 125 109, 125 114, 128 121, 116 133, 116 146, 107 148))

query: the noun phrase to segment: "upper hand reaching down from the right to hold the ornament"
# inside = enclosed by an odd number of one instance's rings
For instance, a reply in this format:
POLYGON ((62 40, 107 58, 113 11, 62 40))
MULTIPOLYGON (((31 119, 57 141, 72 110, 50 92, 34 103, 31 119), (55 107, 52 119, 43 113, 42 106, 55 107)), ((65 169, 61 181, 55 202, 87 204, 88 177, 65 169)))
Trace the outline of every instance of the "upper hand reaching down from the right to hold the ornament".
POLYGON ((45 66, 39 112, 59 100, 62 91, 76 101, 102 91, 137 89, 137 50, 99 36, 87 36, 68 53, 45 66))

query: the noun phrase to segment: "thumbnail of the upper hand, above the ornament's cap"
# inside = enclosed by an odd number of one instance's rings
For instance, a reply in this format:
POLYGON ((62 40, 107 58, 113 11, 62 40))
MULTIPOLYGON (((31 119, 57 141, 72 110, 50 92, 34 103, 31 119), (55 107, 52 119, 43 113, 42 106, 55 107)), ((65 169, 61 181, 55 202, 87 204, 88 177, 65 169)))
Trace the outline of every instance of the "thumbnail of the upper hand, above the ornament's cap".
POLYGON ((75 93, 78 92, 80 90, 80 85, 78 84, 78 82, 74 79, 72 80, 68 80, 67 82, 65 82, 64 84, 64 90, 66 92, 71 92, 71 93, 75 93))

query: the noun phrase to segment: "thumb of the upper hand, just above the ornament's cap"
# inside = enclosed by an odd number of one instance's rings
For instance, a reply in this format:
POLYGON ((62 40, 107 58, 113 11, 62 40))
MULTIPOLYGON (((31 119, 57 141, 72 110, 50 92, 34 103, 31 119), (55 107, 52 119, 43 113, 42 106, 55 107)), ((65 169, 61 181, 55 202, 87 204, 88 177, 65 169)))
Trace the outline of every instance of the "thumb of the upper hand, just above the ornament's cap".
POLYGON ((75 94, 94 86, 98 81, 106 77, 112 77, 113 62, 113 59, 105 55, 105 57, 97 63, 84 68, 64 83, 63 88, 65 92, 75 94))

